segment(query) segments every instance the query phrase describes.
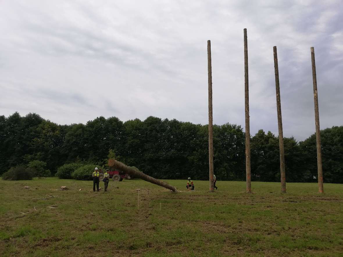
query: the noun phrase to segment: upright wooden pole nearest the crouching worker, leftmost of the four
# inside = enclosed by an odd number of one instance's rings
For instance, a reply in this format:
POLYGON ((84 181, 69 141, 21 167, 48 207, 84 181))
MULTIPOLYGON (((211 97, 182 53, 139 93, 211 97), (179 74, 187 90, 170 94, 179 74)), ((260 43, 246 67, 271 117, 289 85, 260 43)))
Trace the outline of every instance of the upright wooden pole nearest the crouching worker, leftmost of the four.
POLYGON ((207 62, 209 77, 209 168, 210 168, 210 192, 214 192, 213 182, 213 113, 212 113, 212 61, 211 40, 207 40, 207 62))

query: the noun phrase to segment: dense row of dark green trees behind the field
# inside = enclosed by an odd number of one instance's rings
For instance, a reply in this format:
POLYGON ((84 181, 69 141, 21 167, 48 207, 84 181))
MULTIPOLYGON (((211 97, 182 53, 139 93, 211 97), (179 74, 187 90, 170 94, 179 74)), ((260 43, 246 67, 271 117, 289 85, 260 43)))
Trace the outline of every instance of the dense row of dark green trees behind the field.
MULTIPOLYGON (((240 125, 214 125, 214 171, 218 180, 245 180, 245 133, 240 125)), ((343 183, 343 126, 321 131, 323 177, 343 183)), ((316 182, 316 136, 285 138, 287 182, 316 182)), ((0 174, 18 164, 44 161, 52 174, 64 163, 106 164, 109 150, 127 165, 158 179, 208 179, 208 126, 148 117, 120 121, 98 117, 86 124, 58 125, 29 113, 0 116, 0 174)), ((91 172, 91 171, 90 171, 91 172)), ((280 181, 279 139, 260 130, 251 137, 252 181, 280 181)))

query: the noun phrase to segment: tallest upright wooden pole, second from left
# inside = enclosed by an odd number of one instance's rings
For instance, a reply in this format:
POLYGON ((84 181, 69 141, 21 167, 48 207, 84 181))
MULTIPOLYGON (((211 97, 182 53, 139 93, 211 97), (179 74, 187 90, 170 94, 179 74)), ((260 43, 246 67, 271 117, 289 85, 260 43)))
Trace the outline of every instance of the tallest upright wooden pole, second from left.
POLYGON ((244 85, 245 85, 245 168, 247 193, 251 193, 250 170, 250 117, 249 117, 249 76, 248 76, 248 38, 247 29, 244 29, 244 85))

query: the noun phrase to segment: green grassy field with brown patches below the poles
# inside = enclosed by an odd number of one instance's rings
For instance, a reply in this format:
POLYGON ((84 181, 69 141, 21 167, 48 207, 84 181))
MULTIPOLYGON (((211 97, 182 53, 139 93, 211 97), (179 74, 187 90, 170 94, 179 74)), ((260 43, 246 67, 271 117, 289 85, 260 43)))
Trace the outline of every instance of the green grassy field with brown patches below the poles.
POLYGON ((245 182, 218 181, 214 193, 207 181, 192 192, 167 182, 182 192, 142 180, 98 193, 92 181, 0 180, 0 255, 343 256, 342 184, 320 195, 317 184, 287 183, 282 195, 280 183, 252 182, 246 194, 245 182), (58 197, 33 199, 47 195, 58 197))

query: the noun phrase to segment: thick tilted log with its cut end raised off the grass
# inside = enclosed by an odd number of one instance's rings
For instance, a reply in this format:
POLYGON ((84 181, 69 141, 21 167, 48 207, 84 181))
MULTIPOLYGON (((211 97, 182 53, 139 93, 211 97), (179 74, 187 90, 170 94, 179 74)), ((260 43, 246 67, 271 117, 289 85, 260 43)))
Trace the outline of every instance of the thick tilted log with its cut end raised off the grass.
POLYGON ((111 168, 114 167, 118 170, 124 171, 127 174, 129 174, 130 176, 133 176, 134 178, 139 178, 139 179, 145 180, 147 182, 153 183, 155 185, 163 186, 167 189, 170 189, 173 192, 176 191, 176 188, 174 186, 171 186, 164 181, 159 181, 157 179, 154 179, 153 177, 148 176, 148 175, 144 174, 143 172, 136 171, 136 170, 132 169, 131 167, 126 166, 124 163, 122 163, 120 161, 116 161, 114 159, 109 159, 108 160, 108 166, 111 168))

